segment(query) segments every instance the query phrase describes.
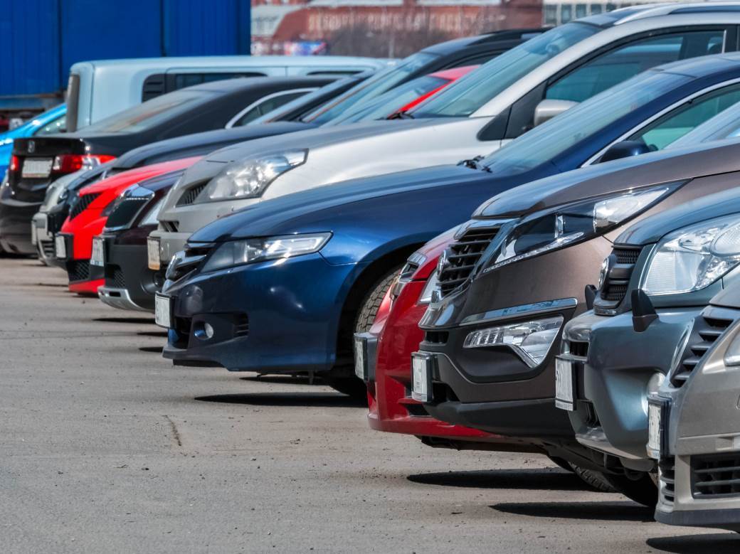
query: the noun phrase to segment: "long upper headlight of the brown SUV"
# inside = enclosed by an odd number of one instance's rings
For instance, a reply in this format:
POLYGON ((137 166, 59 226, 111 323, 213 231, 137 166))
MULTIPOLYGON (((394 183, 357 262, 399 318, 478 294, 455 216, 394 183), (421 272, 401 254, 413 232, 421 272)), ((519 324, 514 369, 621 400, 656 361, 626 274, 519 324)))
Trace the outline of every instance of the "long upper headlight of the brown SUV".
POLYGON ((605 234, 670 195, 681 184, 579 200, 525 217, 497 241, 485 271, 605 234))

